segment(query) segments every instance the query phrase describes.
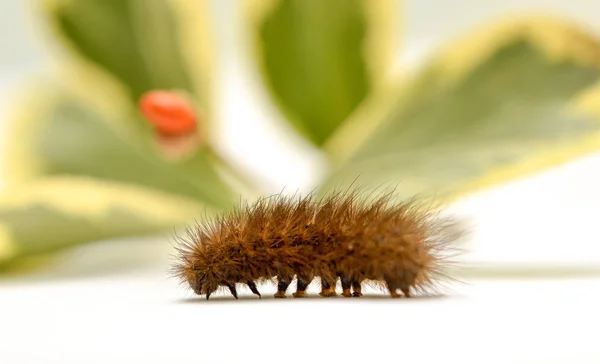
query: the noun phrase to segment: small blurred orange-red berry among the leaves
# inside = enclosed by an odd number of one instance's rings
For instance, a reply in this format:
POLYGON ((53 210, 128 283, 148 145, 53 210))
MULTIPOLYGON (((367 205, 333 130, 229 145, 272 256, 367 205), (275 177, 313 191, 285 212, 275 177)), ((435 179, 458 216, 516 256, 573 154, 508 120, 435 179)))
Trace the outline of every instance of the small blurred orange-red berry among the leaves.
POLYGON ((175 92, 147 92, 140 99, 140 111, 160 134, 182 135, 196 129, 194 109, 175 92))

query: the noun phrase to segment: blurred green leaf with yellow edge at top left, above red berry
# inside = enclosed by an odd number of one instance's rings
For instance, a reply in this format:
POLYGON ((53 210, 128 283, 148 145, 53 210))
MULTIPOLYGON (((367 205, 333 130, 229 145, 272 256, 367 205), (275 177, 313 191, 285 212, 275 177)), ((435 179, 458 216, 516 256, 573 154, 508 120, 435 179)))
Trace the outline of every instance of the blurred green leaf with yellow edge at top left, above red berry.
POLYGON ((208 107, 212 51, 205 2, 44 0, 44 5, 69 49, 122 82, 134 102, 148 90, 180 89, 208 107))

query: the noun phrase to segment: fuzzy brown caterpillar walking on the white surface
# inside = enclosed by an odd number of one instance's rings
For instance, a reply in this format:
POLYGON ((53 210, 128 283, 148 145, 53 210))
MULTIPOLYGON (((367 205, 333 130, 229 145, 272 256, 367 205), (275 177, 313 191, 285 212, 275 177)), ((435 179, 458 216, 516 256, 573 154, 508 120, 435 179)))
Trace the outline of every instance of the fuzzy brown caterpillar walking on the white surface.
POLYGON ((180 239, 174 275, 206 299, 219 287, 237 298, 236 283, 260 297, 256 282, 275 278, 275 297, 305 295, 313 278, 321 296, 360 297, 368 280, 392 297, 437 287, 450 264, 448 225, 415 201, 395 203, 392 193, 369 200, 358 190, 317 199, 275 195, 240 205, 188 229, 180 239), (352 292, 351 292, 352 290, 352 292))

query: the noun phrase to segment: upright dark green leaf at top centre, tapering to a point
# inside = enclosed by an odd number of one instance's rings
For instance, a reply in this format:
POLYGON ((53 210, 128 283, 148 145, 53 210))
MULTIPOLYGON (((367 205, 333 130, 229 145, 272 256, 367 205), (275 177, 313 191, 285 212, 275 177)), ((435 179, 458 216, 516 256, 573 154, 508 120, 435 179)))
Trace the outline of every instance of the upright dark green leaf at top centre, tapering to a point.
POLYGON ((292 126, 316 145, 390 70, 395 3, 248 1, 263 80, 292 126))

